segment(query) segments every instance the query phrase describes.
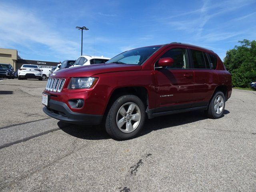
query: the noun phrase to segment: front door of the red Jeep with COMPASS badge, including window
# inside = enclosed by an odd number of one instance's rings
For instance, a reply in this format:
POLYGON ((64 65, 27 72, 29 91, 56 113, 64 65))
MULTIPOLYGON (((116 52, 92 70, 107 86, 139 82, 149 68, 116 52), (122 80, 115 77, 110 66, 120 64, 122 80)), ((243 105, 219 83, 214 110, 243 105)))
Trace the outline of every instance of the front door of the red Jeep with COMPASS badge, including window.
POLYGON ((190 108, 193 100, 194 72, 190 68, 188 50, 182 46, 171 47, 162 53, 159 59, 167 57, 174 60, 173 66, 161 68, 157 62, 155 64, 156 108, 160 111, 190 108))

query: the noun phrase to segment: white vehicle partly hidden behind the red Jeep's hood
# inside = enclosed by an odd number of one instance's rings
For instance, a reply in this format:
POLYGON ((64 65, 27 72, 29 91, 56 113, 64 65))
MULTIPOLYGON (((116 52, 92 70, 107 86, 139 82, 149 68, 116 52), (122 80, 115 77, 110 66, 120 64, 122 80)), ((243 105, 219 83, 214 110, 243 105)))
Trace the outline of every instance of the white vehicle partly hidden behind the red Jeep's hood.
POLYGON ((82 66, 82 65, 100 64, 100 63, 105 63, 108 60, 110 60, 110 58, 103 57, 103 56, 98 57, 98 56, 82 55, 76 60, 74 65, 71 66, 71 67, 78 67, 78 66, 82 66))

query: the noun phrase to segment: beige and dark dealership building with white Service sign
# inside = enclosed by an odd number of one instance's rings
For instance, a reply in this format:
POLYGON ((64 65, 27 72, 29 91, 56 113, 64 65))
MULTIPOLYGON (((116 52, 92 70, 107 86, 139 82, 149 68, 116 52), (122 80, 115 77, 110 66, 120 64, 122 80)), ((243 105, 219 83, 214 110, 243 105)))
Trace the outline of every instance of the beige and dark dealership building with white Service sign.
POLYGON ((59 62, 25 60, 20 58, 17 50, 4 48, 0 48, 0 63, 11 64, 14 70, 19 69, 23 64, 33 64, 42 67, 52 67, 59 64, 59 62))

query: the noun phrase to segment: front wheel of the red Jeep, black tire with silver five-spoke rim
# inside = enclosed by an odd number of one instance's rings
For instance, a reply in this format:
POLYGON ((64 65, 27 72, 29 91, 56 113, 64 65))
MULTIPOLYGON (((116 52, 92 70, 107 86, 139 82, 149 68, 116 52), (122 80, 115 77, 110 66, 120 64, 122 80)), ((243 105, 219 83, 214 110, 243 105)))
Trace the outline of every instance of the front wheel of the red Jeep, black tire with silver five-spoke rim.
POLYGON ((145 118, 145 106, 140 98, 135 95, 120 96, 106 116, 106 132, 117 140, 133 138, 142 130, 145 118))

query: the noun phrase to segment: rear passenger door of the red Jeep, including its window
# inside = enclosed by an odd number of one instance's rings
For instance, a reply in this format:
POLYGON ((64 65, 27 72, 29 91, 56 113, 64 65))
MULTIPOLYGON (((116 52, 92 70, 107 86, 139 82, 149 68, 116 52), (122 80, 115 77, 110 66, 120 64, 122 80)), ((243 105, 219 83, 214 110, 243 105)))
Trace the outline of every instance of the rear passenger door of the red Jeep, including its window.
POLYGON ((194 70, 194 98, 192 107, 206 106, 218 83, 218 76, 212 68, 208 54, 200 49, 190 49, 194 70))

